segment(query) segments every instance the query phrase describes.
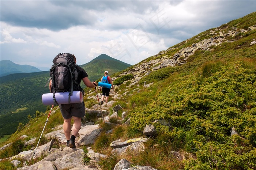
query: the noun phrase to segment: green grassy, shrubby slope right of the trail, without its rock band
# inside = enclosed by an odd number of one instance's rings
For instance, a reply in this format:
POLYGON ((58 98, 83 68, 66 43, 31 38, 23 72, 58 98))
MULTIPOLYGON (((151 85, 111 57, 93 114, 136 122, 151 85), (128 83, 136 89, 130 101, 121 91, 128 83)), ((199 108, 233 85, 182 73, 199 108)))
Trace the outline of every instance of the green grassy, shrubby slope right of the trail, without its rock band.
MULTIPOLYGON (((228 31, 255 24, 253 13, 220 28, 228 31)), ((208 38, 209 32, 172 48, 190 46, 198 38, 208 38)), ((255 37, 256 30, 240 33, 230 37, 234 42, 208 52, 198 50, 187 64, 152 72, 140 80, 154 82, 150 91, 155 95, 131 97, 130 104, 139 105, 131 113, 132 127, 141 132, 146 124, 155 125, 154 145, 164 153, 157 158, 175 150, 183 155, 186 170, 256 168, 256 50, 250 45, 255 37), (169 76, 162 78, 163 73, 169 76), (155 122, 163 119, 169 126, 155 122), (234 129, 237 134, 231 136, 234 129)), ((176 50, 167 55, 173 56, 176 50)))

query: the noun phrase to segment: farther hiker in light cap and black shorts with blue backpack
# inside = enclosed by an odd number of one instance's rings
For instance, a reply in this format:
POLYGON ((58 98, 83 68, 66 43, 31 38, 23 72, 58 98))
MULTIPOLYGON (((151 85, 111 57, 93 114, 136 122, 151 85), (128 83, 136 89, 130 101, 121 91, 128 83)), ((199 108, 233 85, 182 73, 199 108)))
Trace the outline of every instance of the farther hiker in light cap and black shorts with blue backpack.
MULTIPOLYGON (((108 71, 104 72, 104 76, 102 76, 101 78, 101 83, 111 84, 111 87, 114 88, 111 77, 108 74, 109 74, 108 71)), ((106 100, 106 103, 108 103, 110 88, 100 87, 99 90, 100 91, 102 90, 101 105, 103 104, 104 97, 106 97, 105 100, 106 100)))

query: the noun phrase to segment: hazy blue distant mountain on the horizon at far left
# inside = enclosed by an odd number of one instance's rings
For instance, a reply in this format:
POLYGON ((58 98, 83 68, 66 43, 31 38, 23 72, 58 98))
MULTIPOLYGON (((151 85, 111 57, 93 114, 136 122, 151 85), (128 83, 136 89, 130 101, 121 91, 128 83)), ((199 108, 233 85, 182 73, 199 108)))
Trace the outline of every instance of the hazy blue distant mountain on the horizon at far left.
POLYGON ((31 72, 39 72, 39 71, 41 70, 31 65, 15 64, 10 60, 0 61, 0 77, 10 75, 13 73, 31 73, 31 72))

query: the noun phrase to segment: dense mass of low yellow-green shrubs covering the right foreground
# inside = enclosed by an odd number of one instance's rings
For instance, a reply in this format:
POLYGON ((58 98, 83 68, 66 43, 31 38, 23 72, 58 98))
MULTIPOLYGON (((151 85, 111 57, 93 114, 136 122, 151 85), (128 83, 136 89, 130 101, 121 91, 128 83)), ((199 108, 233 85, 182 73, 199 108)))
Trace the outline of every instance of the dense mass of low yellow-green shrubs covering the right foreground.
POLYGON ((154 124, 158 134, 172 139, 174 150, 196 154, 197 159, 184 160, 185 169, 252 169, 256 67, 250 62, 207 62, 197 71, 203 74, 177 76, 157 100, 131 111, 132 128, 142 132, 147 124, 154 124), (154 123, 161 119, 169 126, 154 123), (231 138, 233 127, 241 137, 231 138))

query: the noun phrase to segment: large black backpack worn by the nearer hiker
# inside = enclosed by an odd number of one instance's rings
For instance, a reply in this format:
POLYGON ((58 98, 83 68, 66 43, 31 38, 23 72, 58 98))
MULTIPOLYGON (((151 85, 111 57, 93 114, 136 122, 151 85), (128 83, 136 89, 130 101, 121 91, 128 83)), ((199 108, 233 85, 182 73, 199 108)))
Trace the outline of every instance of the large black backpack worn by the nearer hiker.
POLYGON ((79 90, 79 84, 76 82, 77 69, 74 56, 69 53, 59 53, 53 59, 53 65, 50 69, 50 78, 52 79, 52 93, 54 104, 58 104, 55 100, 56 92, 69 92, 70 96, 73 91, 79 90))

